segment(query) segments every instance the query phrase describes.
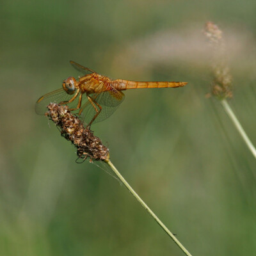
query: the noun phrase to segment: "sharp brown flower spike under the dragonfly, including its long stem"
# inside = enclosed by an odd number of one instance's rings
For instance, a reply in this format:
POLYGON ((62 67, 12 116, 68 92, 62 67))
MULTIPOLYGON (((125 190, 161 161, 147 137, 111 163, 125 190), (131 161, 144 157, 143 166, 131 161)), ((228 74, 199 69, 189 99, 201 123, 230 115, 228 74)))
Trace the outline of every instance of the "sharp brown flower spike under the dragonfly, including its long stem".
POLYGON ((125 185, 125 187, 131 192, 131 194, 140 202, 141 206, 145 208, 160 225, 161 228, 168 234, 169 237, 179 246, 180 250, 187 256, 192 256, 191 253, 183 246, 182 243, 175 237, 172 232, 164 225, 164 223, 157 218, 156 214, 148 207, 147 204, 140 198, 140 196, 132 189, 124 177, 118 172, 113 163, 109 159, 109 150, 102 145, 102 142, 96 136, 93 136, 93 132, 90 129, 84 128, 83 122, 70 113, 68 106, 50 103, 47 108, 49 109, 45 116, 52 120, 57 127, 60 128, 61 135, 67 140, 70 140, 77 148, 77 156, 82 159, 90 157, 90 161, 104 161, 113 170, 115 175, 125 185))

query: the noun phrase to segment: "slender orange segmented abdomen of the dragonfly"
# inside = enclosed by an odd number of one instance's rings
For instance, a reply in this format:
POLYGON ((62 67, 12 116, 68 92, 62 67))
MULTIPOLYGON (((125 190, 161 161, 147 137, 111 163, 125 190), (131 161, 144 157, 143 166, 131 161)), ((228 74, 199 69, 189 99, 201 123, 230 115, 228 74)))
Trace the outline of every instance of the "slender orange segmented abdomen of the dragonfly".
POLYGON ((116 90, 127 90, 136 88, 168 88, 168 87, 182 87, 186 82, 136 82, 123 79, 116 79, 113 81, 113 86, 116 90))

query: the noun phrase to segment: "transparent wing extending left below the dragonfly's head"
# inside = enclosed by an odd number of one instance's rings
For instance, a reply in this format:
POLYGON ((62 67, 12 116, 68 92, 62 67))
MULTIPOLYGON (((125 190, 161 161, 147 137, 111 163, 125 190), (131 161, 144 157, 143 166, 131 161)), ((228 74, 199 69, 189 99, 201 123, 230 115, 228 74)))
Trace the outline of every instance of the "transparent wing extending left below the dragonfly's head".
MULTIPOLYGON (((61 101, 70 100, 74 95, 70 95, 63 90, 63 88, 55 90, 53 92, 47 93, 44 96, 40 97, 35 104, 35 111, 38 115, 44 115, 45 112, 48 110, 46 106, 51 102, 60 103, 61 101)), ((68 103, 68 108, 76 108, 78 103, 78 98, 71 103, 68 103)))

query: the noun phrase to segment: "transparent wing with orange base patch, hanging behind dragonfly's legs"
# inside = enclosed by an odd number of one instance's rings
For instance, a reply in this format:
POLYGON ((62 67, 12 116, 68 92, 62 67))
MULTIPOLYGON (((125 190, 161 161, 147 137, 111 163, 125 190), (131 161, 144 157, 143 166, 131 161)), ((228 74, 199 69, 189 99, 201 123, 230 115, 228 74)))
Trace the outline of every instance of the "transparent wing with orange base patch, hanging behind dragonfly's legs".
MULTIPOLYGON (((99 115, 93 121, 93 124, 95 124, 98 122, 102 122, 103 120, 111 116, 118 108, 118 106, 124 101, 125 95, 120 91, 111 90, 101 93, 93 93, 90 95, 90 97, 102 107, 99 115)), ((96 104, 95 107, 100 110, 99 106, 97 106, 96 104)), ((81 113, 81 119, 87 125, 91 122, 92 118, 96 114, 95 108, 93 108, 90 101, 87 101, 81 109, 83 109, 81 113)))

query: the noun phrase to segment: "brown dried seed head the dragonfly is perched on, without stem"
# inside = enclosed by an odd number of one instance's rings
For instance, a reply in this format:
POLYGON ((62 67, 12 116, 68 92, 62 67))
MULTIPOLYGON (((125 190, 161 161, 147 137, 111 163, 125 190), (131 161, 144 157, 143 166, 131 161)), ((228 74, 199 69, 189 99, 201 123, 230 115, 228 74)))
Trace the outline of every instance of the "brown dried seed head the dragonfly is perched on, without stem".
POLYGON ((109 158, 109 149, 90 129, 84 128, 83 122, 70 113, 68 106, 50 103, 45 116, 52 120, 61 131, 61 136, 72 142, 77 148, 77 156, 90 161, 104 161, 109 158))

